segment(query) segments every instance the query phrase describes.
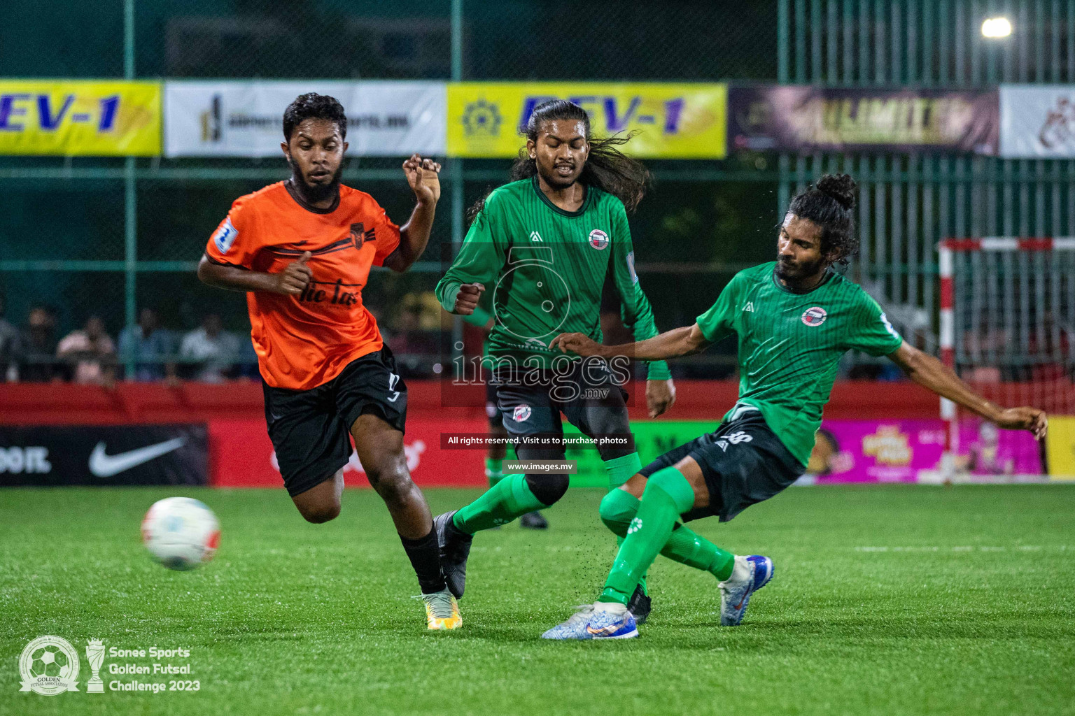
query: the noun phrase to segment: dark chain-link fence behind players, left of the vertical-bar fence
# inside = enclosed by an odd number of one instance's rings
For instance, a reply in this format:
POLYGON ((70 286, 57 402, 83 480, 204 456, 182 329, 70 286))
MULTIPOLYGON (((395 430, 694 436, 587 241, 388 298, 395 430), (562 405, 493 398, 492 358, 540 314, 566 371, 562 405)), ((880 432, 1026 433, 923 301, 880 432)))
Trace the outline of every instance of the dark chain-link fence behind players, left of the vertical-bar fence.
MULTIPOLYGON (((15 0, 0 25, 0 76, 448 79, 453 4, 104 0, 63 2, 41 13, 15 0)), ((458 78, 772 82, 777 10, 776 0, 645 6, 465 0, 458 78)), ((413 196, 402 173, 396 175, 400 161, 353 158, 344 181, 373 194, 403 222, 413 196)), ((461 162, 455 176, 461 177, 464 205, 505 181, 508 166, 461 162)), ((655 186, 632 231, 658 326, 670 328, 706 309, 735 271, 772 258, 778 174, 754 156, 649 166, 655 186)), ((225 330, 248 342, 242 297, 195 276, 205 240, 233 199, 287 174, 282 159, 0 157, 4 317, 26 328, 35 307, 52 316, 48 335, 38 330, 33 338, 41 357, 55 354, 56 342, 90 316, 103 319, 118 342, 126 325, 153 309, 172 350, 160 361, 177 362, 181 377, 189 375, 176 351, 207 315, 220 316, 225 330)), ((453 180, 443 174, 445 193, 422 261, 405 275, 375 272, 364 292, 412 375, 432 375, 449 349, 450 319, 430 297, 453 237, 453 180)), ((697 356, 676 370, 727 376, 732 350, 697 356)), ((252 359, 244 353, 229 375, 256 375, 248 370, 252 359)))

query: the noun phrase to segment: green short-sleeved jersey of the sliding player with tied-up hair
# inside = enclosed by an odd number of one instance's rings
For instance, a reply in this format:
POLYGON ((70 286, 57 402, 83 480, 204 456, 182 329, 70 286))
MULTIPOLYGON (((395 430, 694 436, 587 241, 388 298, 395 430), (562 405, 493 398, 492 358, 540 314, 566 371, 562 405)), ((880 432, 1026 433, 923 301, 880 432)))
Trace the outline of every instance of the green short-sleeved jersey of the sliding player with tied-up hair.
POLYGON ((841 356, 852 348, 888 355, 903 339, 858 283, 830 272, 816 289, 793 293, 777 282, 775 267, 736 274, 698 326, 711 341, 739 335, 739 403, 758 408, 806 465, 841 356))

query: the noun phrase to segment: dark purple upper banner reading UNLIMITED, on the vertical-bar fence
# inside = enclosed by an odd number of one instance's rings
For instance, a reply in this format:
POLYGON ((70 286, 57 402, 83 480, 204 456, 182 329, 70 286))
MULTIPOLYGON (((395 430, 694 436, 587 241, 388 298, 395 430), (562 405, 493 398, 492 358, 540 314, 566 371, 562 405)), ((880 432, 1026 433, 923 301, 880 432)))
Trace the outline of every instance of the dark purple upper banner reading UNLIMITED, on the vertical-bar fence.
POLYGON ((995 155, 995 89, 730 87, 730 149, 995 155))

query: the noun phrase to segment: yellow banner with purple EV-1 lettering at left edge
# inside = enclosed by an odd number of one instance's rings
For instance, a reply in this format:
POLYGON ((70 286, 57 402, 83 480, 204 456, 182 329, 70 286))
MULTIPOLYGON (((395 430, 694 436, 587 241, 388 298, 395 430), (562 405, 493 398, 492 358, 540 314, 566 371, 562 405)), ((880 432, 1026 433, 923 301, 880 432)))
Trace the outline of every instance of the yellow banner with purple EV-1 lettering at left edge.
POLYGON ((0 81, 0 155, 160 154, 160 83, 0 81))

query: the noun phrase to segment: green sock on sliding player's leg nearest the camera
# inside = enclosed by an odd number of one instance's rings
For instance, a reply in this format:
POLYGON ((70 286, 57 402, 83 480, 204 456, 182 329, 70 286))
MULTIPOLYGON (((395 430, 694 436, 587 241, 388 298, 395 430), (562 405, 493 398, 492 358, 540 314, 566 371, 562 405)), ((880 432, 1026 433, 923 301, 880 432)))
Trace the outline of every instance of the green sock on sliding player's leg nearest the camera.
POLYGON ((666 467, 650 476, 598 601, 626 604, 631 600, 639 580, 672 537, 679 515, 693 503, 694 489, 679 470, 666 467))

